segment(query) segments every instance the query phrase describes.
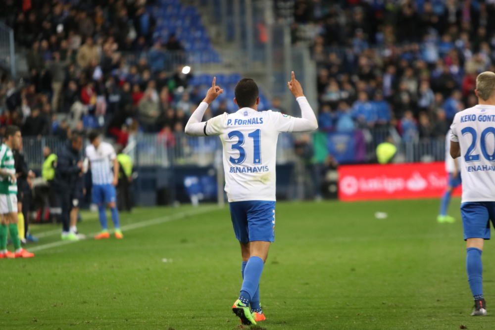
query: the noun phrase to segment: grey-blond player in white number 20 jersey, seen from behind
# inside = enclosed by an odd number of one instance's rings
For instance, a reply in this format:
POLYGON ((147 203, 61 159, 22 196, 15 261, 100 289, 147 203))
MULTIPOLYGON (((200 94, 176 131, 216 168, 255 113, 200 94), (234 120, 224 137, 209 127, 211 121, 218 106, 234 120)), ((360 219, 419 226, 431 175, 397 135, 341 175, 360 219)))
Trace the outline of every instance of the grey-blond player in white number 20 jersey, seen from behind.
POLYGON ((462 157, 461 217, 466 240, 466 270, 474 297, 471 315, 487 314, 481 254, 495 222, 495 73, 476 78, 478 104, 458 112, 450 129, 450 155, 462 157))

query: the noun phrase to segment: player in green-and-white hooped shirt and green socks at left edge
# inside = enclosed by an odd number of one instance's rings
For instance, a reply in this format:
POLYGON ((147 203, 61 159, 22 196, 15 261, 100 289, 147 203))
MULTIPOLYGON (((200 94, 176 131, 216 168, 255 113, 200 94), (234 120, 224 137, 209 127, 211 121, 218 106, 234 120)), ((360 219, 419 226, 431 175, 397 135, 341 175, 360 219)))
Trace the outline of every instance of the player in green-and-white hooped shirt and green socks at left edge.
POLYGON ((34 254, 21 247, 17 231, 17 178, 15 176, 12 149, 21 143, 21 131, 17 126, 8 126, 0 145, 0 259, 32 258, 34 254), (15 252, 7 250, 7 231, 15 252))

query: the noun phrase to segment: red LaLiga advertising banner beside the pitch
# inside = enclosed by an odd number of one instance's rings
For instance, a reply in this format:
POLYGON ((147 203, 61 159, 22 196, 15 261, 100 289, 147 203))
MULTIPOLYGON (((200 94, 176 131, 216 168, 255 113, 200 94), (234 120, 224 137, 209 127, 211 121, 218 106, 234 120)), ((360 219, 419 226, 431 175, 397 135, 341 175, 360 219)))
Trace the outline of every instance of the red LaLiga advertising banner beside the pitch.
MULTIPOLYGON (((444 162, 339 167, 343 201, 441 197, 446 185, 444 162)), ((460 196, 461 188, 453 195, 460 196)))

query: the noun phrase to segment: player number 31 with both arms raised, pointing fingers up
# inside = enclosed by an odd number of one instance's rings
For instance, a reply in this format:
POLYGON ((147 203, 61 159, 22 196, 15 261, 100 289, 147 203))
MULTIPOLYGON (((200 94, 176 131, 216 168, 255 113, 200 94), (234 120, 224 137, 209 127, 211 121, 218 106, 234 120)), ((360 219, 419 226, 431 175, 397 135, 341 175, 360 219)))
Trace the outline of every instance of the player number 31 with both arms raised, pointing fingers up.
POLYGON ((225 191, 232 225, 241 244, 243 283, 232 306, 243 324, 265 320, 259 302, 259 281, 275 239, 275 165, 281 132, 308 132, 318 128, 316 116, 302 92, 294 72, 287 83, 301 109, 295 118, 280 112, 258 111, 258 87, 252 79, 241 79, 235 88, 235 113, 224 113, 201 122, 208 105, 223 90, 215 78, 206 97, 191 115, 185 131, 193 136, 218 135, 223 145, 225 191))

